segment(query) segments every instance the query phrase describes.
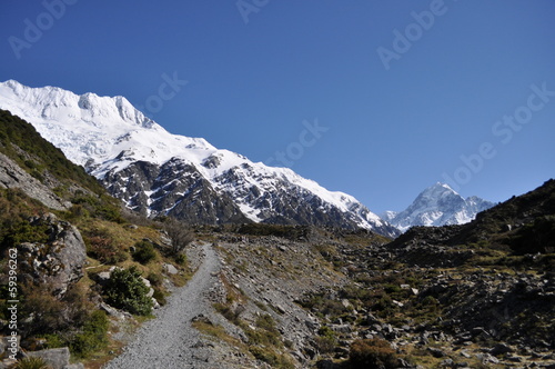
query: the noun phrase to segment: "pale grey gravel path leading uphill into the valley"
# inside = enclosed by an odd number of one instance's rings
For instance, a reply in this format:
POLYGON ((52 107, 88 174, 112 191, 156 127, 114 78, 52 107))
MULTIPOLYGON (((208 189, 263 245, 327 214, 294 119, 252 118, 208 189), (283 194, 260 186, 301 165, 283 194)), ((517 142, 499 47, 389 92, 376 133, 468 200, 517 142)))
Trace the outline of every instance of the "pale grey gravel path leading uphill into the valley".
POLYGON ((206 368, 210 348, 202 343, 191 319, 210 313, 204 293, 216 280, 220 261, 212 245, 201 247, 204 260, 193 278, 172 293, 157 318, 145 322, 123 353, 104 369, 206 368))

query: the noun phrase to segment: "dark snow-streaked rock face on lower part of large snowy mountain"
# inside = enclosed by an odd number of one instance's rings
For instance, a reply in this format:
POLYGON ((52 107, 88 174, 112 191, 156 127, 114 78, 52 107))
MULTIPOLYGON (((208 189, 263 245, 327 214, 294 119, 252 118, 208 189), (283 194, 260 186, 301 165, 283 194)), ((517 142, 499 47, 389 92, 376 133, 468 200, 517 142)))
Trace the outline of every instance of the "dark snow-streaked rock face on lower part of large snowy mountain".
MULTIPOLYGON (((108 172, 102 181, 112 196, 142 215, 171 216, 195 225, 252 222, 242 206, 255 209, 259 220, 265 223, 356 229, 361 219, 372 219, 370 210, 359 202, 342 211, 287 180, 263 176, 242 164, 216 177, 213 184, 193 164, 173 158, 161 166, 137 161, 108 172), (250 186, 251 181, 268 188, 250 186)), ((386 222, 376 222, 374 231, 398 235, 386 222)))

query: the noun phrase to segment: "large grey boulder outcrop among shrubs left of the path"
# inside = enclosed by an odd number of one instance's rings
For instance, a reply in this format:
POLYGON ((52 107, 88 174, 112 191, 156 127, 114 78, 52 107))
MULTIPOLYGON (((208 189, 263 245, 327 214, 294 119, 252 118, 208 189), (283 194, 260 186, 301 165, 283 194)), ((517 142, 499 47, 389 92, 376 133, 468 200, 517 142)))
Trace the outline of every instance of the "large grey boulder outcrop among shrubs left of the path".
POLYGON ((31 219, 34 227, 44 227, 48 242, 24 242, 18 246, 21 270, 39 283, 52 286, 62 296, 69 286, 83 276, 87 248, 79 230, 67 221, 48 213, 31 219))

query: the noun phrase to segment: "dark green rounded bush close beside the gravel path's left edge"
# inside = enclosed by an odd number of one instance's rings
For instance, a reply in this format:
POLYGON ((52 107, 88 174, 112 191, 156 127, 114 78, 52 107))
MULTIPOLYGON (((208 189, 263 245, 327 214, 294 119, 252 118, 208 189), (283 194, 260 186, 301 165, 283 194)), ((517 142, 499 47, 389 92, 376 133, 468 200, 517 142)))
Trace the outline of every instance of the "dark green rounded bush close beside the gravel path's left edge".
POLYGON ((148 316, 152 311, 149 288, 141 280, 137 267, 115 269, 104 287, 107 302, 131 313, 148 316))

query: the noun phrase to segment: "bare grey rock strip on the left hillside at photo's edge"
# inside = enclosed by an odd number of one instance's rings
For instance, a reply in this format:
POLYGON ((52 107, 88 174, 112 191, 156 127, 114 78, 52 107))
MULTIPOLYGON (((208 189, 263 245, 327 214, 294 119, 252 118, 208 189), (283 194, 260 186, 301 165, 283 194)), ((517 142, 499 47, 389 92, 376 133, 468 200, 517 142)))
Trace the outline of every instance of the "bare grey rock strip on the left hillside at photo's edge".
POLYGON ((54 210, 67 210, 71 203, 56 196, 50 188, 26 172, 13 160, 0 153, 0 188, 19 188, 27 196, 54 210))

